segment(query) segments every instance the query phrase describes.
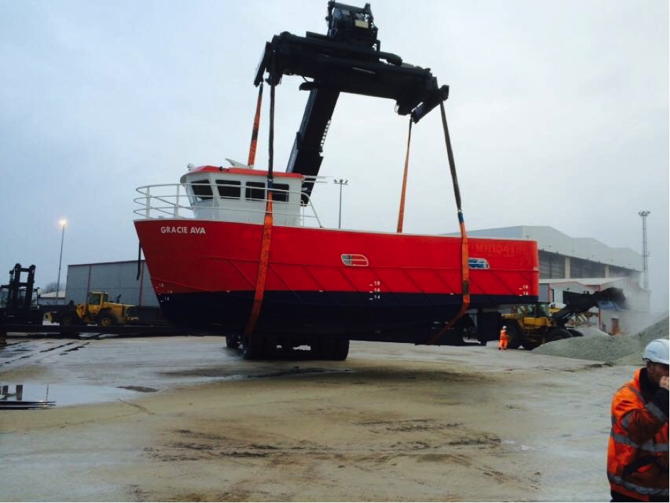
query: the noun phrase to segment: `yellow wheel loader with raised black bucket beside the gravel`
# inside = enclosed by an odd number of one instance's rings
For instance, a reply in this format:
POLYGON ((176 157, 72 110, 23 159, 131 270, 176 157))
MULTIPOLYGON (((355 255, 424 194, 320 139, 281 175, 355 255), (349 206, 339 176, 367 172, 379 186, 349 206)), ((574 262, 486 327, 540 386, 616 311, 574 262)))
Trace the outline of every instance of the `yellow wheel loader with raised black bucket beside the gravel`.
POLYGON ((563 292, 565 307, 552 309, 548 302, 514 306, 512 312, 503 314, 501 328, 507 327, 508 348, 535 349, 545 342, 582 337, 579 330, 566 327, 573 316, 587 312, 592 307, 605 310, 627 309, 627 301, 620 288, 607 288, 600 292, 563 292), (552 312, 555 311, 555 312, 552 312))

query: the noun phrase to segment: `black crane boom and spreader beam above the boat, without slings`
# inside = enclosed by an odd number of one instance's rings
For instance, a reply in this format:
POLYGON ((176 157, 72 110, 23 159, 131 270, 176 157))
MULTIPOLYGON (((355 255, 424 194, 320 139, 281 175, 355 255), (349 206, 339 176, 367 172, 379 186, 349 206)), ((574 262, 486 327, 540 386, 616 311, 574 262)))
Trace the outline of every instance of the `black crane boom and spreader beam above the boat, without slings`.
MULTIPOLYGON (((288 158, 288 173, 318 175, 340 92, 395 100, 396 112, 411 114, 414 122, 449 96, 449 87, 439 87, 430 68, 403 63, 399 55, 380 50, 370 4, 355 7, 329 1, 325 20, 325 35, 308 31, 301 37, 285 31, 274 36, 266 43, 253 81, 260 85, 266 73, 268 83, 274 84, 281 83, 282 75, 305 78, 300 90, 310 95, 288 158)), ((303 184, 307 195, 312 188, 312 182, 303 184)))

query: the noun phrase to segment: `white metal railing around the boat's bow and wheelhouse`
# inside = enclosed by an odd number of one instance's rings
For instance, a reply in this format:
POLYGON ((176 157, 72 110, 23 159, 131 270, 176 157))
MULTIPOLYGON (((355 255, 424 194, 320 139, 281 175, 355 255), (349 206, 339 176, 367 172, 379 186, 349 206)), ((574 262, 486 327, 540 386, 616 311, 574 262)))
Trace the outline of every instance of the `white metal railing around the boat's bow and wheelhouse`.
MULTIPOLYGON (((198 191, 203 188, 203 184, 155 184, 144 185, 135 189, 140 196, 133 201, 140 206, 133 210, 140 218, 151 220, 154 218, 201 218, 197 213, 206 211, 209 214, 206 220, 216 221, 243 221, 242 218, 235 218, 237 213, 259 214, 262 221, 262 215, 265 213, 267 198, 245 198, 241 194, 240 198, 226 198, 212 194, 198 195, 198 191), (195 189, 189 190, 189 187, 195 189), (244 203, 241 203, 244 201, 244 203), (248 204, 256 203, 256 204, 248 204), (259 204, 262 203, 262 204, 259 204)), ((216 187, 211 187, 216 189, 216 187)), ((261 189, 262 190, 262 189, 261 189)), ((274 217, 284 217, 287 221, 292 221, 288 225, 298 225, 311 227, 316 224, 323 227, 316 208, 312 204, 310 196, 303 191, 291 191, 283 189, 273 189, 272 213, 274 217), (278 194, 286 194, 288 201, 278 201, 278 194), (295 219, 295 220, 293 220, 295 219), (310 225, 311 224, 311 225, 310 225)), ((267 194, 264 191, 264 194, 267 194)))

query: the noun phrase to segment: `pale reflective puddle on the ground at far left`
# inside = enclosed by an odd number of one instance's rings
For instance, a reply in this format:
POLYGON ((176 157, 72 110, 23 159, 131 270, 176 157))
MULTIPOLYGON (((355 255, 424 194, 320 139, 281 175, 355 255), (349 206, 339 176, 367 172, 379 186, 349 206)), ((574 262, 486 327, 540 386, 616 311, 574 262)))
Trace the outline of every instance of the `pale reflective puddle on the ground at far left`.
MULTIPOLYGON (((14 384, 10 388, 14 390, 14 384)), ((144 386, 93 386, 87 384, 46 384, 24 383, 23 401, 56 402, 56 407, 83 405, 85 403, 100 403, 118 400, 119 398, 134 398, 138 391, 147 393, 147 390, 157 391, 155 388, 144 386), (135 389, 139 388, 139 389, 135 389)), ((14 401, 14 396, 9 400, 14 401)))

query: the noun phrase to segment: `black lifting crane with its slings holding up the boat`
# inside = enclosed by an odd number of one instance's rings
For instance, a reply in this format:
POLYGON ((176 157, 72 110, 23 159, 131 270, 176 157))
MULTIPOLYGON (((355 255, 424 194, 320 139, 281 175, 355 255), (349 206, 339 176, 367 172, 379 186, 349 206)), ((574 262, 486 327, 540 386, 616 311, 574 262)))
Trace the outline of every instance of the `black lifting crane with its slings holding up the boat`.
MULTIPOLYGON (((435 107, 440 105, 444 139, 454 196, 461 228, 461 279, 463 302, 456 317, 441 327, 429 344, 438 341, 454 324, 463 319, 470 302, 469 270, 467 236, 463 213, 461 211, 461 197, 456 179, 449 131, 446 125, 444 105, 442 102, 449 97, 449 86, 439 86, 437 79, 429 68, 403 63, 399 55, 381 51, 381 43, 377 38, 377 26, 372 16, 370 4, 364 7, 355 7, 340 4, 336 1, 328 2, 328 32, 307 32, 304 37, 283 32, 274 36, 266 43, 265 50, 258 69, 254 85, 259 86, 265 80, 271 85, 270 90, 270 132, 269 132, 269 159, 268 159, 268 188, 272 186, 273 173, 273 123, 274 123, 274 89, 281 83, 283 75, 299 75, 305 79, 300 90, 310 91, 310 95, 300 122, 300 129, 295 134, 293 149, 290 152, 288 173, 298 173, 305 176, 301 190, 303 204, 307 203, 313 189, 315 177, 318 175, 323 162, 323 144, 333 117, 340 92, 350 92, 358 95, 384 97, 396 102, 395 110, 399 115, 410 115, 409 131, 412 122, 416 123, 435 107), (266 78, 266 73, 268 74, 266 78), (307 80, 308 78, 312 80, 307 80)), ((256 120, 251 136, 249 165, 253 165, 258 133, 258 112, 260 110, 262 87, 258 94, 256 120)), ((409 153, 409 134, 408 134, 409 153)), ((407 162, 405 166, 407 172, 407 162)), ((406 175, 405 175, 406 176, 406 175)), ((404 199, 401 198, 401 211, 404 208, 404 199)), ((266 270, 268 264, 270 236, 272 228, 272 199, 266 201, 266 214, 263 221, 263 240, 258 265, 258 277, 254 291, 251 315, 242 338, 245 355, 261 354, 262 339, 251 337, 256 320, 261 310, 263 293, 265 290, 266 270), (254 341, 253 344, 251 341, 254 341)), ((399 228, 401 216, 399 216, 399 228)), ((342 341, 340 349, 335 353, 337 359, 344 359, 348 351, 348 341, 342 341)), ((461 339, 462 342, 462 339, 461 339)), ((229 346, 237 341, 227 341, 229 346)), ((246 357, 246 356, 245 356, 246 357)), ((251 356, 249 356, 251 358, 251 356)))

